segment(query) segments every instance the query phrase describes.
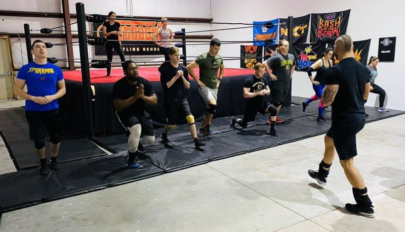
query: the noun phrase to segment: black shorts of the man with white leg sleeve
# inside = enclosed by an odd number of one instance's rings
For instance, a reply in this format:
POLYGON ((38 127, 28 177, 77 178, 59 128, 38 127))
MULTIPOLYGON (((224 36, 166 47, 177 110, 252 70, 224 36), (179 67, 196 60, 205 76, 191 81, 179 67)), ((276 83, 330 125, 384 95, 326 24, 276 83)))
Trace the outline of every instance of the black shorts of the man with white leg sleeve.
POLYGON ((141 136, 142 135, 150 135, 155 136, 153 131, 153 125, 150 120, 150 116, 148 113, 144 112, 144 115, 141 116, 127 116, 127 115, 119 115, 116 114, 121 125, 128 131, 128 128, 131 128, 135 124, 141 124, 141 136))

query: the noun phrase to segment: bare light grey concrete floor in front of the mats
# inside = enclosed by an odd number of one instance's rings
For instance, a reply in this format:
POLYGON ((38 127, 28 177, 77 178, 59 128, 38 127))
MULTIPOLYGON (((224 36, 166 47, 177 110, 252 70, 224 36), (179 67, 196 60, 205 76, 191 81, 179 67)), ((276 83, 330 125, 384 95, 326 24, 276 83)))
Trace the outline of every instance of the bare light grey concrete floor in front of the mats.
MULTIPOLYGON (((404 121, 368 123, 357 136, 355 164, 375 218, 344 209, 354 199, 337 158, 325 188, 308 176, 321 160, 320 135, 4 213, 1 230, 404 231, 404 121)), ((4 149, 0 143, 0 173, 13 169, 4 149)))

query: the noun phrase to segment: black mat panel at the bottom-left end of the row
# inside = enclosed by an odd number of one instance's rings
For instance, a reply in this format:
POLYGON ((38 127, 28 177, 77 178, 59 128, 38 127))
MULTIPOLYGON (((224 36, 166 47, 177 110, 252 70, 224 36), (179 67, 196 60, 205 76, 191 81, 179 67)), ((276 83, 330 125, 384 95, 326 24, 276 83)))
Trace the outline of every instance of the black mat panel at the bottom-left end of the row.
MULTIPOLYGON (((38 170, 34 170, 38 175, 38 170)), ((3 211, 36 205, 42 202, 25 171, 0 175, 0 205, 3 211)))

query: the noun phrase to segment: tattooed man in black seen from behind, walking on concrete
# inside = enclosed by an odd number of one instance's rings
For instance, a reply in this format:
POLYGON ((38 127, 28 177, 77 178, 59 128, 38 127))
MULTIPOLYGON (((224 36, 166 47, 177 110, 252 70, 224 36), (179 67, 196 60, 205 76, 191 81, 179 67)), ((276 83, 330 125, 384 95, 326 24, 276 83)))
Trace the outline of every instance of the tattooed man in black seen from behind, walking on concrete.
POLYGON ((308 170, 308 174, 320 185, 326 185, 336 148, 357 203, 346 204, 346 209, 351 213, 374 217, 367 188, 353 161, 357 155, 356 134, 364 127, 366 120, 364 104, 370 92, 369 71, 353 58, 352 53, 350 36, 339 36, 335 42, 339 64, 328 71, 321 97, 323 105, 332 105, 332 126, 325 135, 325 153, 319 170, 308 170))

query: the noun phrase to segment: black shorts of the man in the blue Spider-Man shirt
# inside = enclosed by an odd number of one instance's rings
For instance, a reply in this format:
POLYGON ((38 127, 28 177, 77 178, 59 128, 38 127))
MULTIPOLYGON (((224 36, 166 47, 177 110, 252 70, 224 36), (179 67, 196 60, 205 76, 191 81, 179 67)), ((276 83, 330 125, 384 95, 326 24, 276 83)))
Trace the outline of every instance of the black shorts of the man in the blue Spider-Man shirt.
POLYGON ((28 121, 30 140, 45 140, 45 135, 58 134, 61 130, 59 110, 50 111, 25 111, 28 121))

